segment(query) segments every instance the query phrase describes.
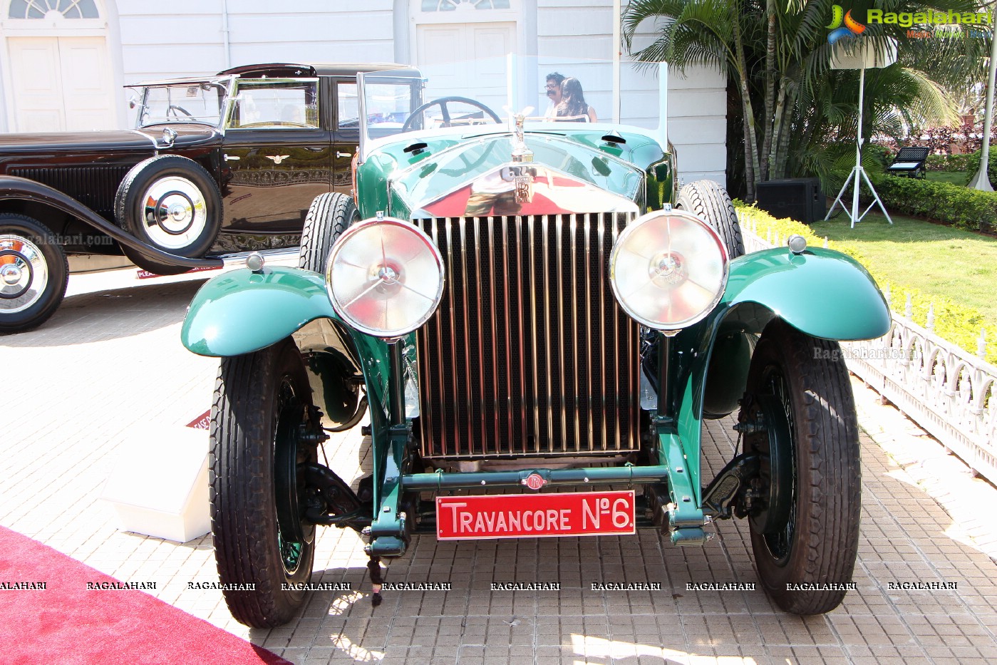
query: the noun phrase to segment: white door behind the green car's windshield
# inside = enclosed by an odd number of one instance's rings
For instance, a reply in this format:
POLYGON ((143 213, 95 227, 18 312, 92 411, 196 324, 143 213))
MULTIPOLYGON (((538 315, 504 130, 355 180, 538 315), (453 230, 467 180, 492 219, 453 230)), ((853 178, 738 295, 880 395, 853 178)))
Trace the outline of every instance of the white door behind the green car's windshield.
POLYGON ((515 53, 515 23, 445 23, 417 29, 417 66, 429 79, 426 100, 471 97, 501 115, 505 55, 515 53))

